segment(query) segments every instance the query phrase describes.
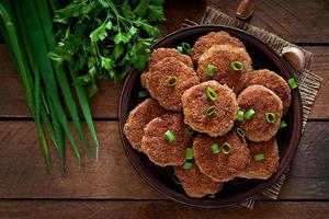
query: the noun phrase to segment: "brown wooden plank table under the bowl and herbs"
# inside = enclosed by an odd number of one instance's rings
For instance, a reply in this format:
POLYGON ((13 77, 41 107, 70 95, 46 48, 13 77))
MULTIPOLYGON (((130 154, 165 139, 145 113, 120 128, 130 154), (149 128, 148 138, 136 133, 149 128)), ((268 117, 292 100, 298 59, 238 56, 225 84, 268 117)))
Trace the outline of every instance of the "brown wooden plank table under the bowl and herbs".
MULTIPOLYGON (((167 0, 168 20, 161 24, 161 34, 178 30, 185 18, 198 21, 206 5, 234 15, 236 1, 167 0)), ((116 115, 122 83, 111 81, 101 82, 92 100, 100 161, 84 158, 79 169, 68 152, 68 175, 61 176, 58 162, 49 175, 22 83, 2 39, 0 218, 329 218, 329 1, 258 0, 251 24, 313 51, 313 70, 324 78, 279 200, 262 199, 253 210, 239 206, 204 210, 155 192, 135 173, 124 153, 116 115)))

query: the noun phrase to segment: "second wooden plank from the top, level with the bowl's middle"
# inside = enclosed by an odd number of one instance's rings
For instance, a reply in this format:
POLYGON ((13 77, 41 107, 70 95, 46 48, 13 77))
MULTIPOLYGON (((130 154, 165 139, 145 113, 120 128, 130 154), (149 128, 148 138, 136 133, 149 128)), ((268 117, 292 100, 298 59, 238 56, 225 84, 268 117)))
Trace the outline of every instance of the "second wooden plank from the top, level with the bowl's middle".
MULTIPOLYGON (((314 72, 324 78, 322 85, 310 113, 310 118, 329 118, 329 46, 308 46, 315 54, 314 72)), ((123 82, 100 82, 99 93, 91 100, 94 117, 116 118, 123 82)), ((21 80, 3 44, 0 44, 0 117, 31 117, 21 80)))

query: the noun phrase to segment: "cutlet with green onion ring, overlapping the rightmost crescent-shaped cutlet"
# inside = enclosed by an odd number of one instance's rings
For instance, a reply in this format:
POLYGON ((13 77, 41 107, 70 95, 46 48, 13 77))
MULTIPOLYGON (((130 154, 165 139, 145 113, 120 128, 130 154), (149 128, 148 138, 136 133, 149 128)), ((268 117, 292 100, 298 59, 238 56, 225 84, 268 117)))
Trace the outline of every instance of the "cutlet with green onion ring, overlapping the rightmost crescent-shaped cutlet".
POLYGON ((240 111, 245 112, 245 117, 249 110, 254 112, 250 119, 241 122, 241 128, 249 140, 268 141, 276 134, 283 106, 273 91, 263 85, 248 87, 239 94, 238 104, 240 111))

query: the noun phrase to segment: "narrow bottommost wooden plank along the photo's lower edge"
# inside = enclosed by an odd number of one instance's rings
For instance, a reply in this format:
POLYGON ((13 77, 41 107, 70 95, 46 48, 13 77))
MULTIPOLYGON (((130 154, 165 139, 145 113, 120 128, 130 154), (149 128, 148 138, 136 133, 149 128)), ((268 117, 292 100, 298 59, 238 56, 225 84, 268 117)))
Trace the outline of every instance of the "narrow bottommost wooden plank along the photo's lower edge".
POLYGON ((4 218, 111 218, 111 219, 322 219, 329 214, 329 203, 263 201, 252 210, 243 207, 202 209, 169 200, 157 201, 48 201, 2 200, 0 215, 4 218))

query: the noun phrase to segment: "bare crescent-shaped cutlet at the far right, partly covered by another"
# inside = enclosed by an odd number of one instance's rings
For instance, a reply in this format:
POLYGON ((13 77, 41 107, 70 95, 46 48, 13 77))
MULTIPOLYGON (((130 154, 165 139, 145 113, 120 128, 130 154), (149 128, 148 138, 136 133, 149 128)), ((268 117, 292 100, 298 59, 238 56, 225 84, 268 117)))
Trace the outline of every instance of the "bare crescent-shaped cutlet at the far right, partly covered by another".
POLYGON ((249 74, 248 85, 259 84, 272 90, 282 101, 283 115, 291 105, 292 95, 288 83, 274 71, 261 69, 249 74))

